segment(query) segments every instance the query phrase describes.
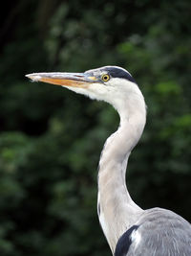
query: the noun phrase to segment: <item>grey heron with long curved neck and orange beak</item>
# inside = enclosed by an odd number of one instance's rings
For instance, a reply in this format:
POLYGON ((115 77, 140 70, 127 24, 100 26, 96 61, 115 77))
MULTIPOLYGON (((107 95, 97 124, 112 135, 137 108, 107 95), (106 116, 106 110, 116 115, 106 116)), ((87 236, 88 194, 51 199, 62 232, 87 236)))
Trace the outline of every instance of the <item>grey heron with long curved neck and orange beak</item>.
POLYGON ((120 124, 103 147, 97 178, 98 218, 113 255, 190 256, 190 223, 170 210, 141 209, 127 190, 128 158, 146 122, 144 97, 132 75, 121 67, 104 66, 84 73, 26 76, 67 87, 117 109, 120 124))

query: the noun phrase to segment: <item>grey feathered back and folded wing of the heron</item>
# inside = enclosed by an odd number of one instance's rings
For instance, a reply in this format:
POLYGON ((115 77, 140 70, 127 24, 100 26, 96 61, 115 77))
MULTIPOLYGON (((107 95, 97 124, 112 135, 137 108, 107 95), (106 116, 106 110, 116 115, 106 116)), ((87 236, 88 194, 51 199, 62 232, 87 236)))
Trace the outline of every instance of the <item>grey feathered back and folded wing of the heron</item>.
POLYGON ((135 225, 138 228, 128 237, 131 244, 115 256, 191 256, 191 225, 179 215, 153 208, 144 211, 135 225))

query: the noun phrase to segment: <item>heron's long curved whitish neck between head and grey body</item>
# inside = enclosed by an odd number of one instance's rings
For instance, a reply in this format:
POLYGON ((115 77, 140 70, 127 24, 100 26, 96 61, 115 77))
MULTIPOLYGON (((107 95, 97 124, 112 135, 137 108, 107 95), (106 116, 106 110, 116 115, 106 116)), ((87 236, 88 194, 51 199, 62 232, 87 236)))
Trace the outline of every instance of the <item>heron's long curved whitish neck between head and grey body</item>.
POLYGON ((126 187, 128 157, 138 143, 146 120, 142 95, 127 99, 117 107, 120 125, 106 141, 99 161, 98 216, 114 253, 119 237, 137 220, 142 210, 126 187))

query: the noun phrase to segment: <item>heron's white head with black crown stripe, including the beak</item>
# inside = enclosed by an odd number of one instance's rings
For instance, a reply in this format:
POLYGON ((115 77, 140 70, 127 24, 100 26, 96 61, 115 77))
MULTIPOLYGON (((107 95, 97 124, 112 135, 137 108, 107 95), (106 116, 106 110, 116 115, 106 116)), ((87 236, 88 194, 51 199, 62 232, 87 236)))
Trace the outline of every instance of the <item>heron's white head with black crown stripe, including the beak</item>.
POLYGON ((104 66, 84 73, 32 73, 26 77, 32 81, 43 81, 67 87, 91 99, 105 101, 116 108, 122 100, 127 101, 129 95, 141 95, 131 74, 117 66, 104 66))

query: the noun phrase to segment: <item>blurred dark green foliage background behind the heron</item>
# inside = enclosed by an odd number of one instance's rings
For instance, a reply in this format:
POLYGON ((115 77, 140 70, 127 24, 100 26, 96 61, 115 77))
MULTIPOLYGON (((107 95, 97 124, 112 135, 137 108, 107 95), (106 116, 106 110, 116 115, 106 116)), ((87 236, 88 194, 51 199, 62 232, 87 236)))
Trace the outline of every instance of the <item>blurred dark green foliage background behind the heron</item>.
POLYGON ((0 255, 109 256, 96 166, 117 128, 106 104, 24 75, 120 65, 147 125, 127 183, 142 208, 191 221, 191 2, 7 1, 0 26, 0 255))

